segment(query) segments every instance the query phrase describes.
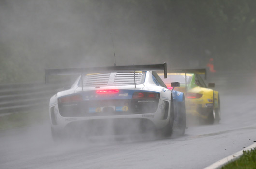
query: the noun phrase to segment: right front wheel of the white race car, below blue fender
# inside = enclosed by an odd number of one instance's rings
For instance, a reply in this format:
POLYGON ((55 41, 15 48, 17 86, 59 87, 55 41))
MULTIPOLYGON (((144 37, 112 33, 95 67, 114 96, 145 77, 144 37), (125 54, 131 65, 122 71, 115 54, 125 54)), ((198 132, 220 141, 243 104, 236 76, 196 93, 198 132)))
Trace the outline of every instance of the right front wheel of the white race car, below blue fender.
POLYGON ((186 130, 186 105, 185 101, 179 102, 178 134, 183 135, 186 130))

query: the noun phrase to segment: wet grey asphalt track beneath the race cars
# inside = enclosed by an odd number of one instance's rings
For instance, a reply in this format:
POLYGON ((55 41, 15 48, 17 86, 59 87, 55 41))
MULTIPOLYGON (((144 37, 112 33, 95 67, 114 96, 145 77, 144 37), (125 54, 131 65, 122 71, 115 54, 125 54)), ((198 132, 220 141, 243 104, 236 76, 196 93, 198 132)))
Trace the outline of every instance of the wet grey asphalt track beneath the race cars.
POLYGON ((256 92, 221 89, 221 121, 184 136, 92 137, 56 144, 48 122, 0 131, 0 169, 202 169, 256 141, 256 92))

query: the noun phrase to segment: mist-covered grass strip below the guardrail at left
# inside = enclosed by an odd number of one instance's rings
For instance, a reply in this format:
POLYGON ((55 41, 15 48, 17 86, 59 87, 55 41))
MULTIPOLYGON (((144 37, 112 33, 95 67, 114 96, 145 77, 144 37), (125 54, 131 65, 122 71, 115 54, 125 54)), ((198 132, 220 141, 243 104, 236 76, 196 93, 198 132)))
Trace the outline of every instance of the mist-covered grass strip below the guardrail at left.
POLYGON ((0 130, 26 127, 49 119, 45 110, 29 110, 0 116, 0 130))

